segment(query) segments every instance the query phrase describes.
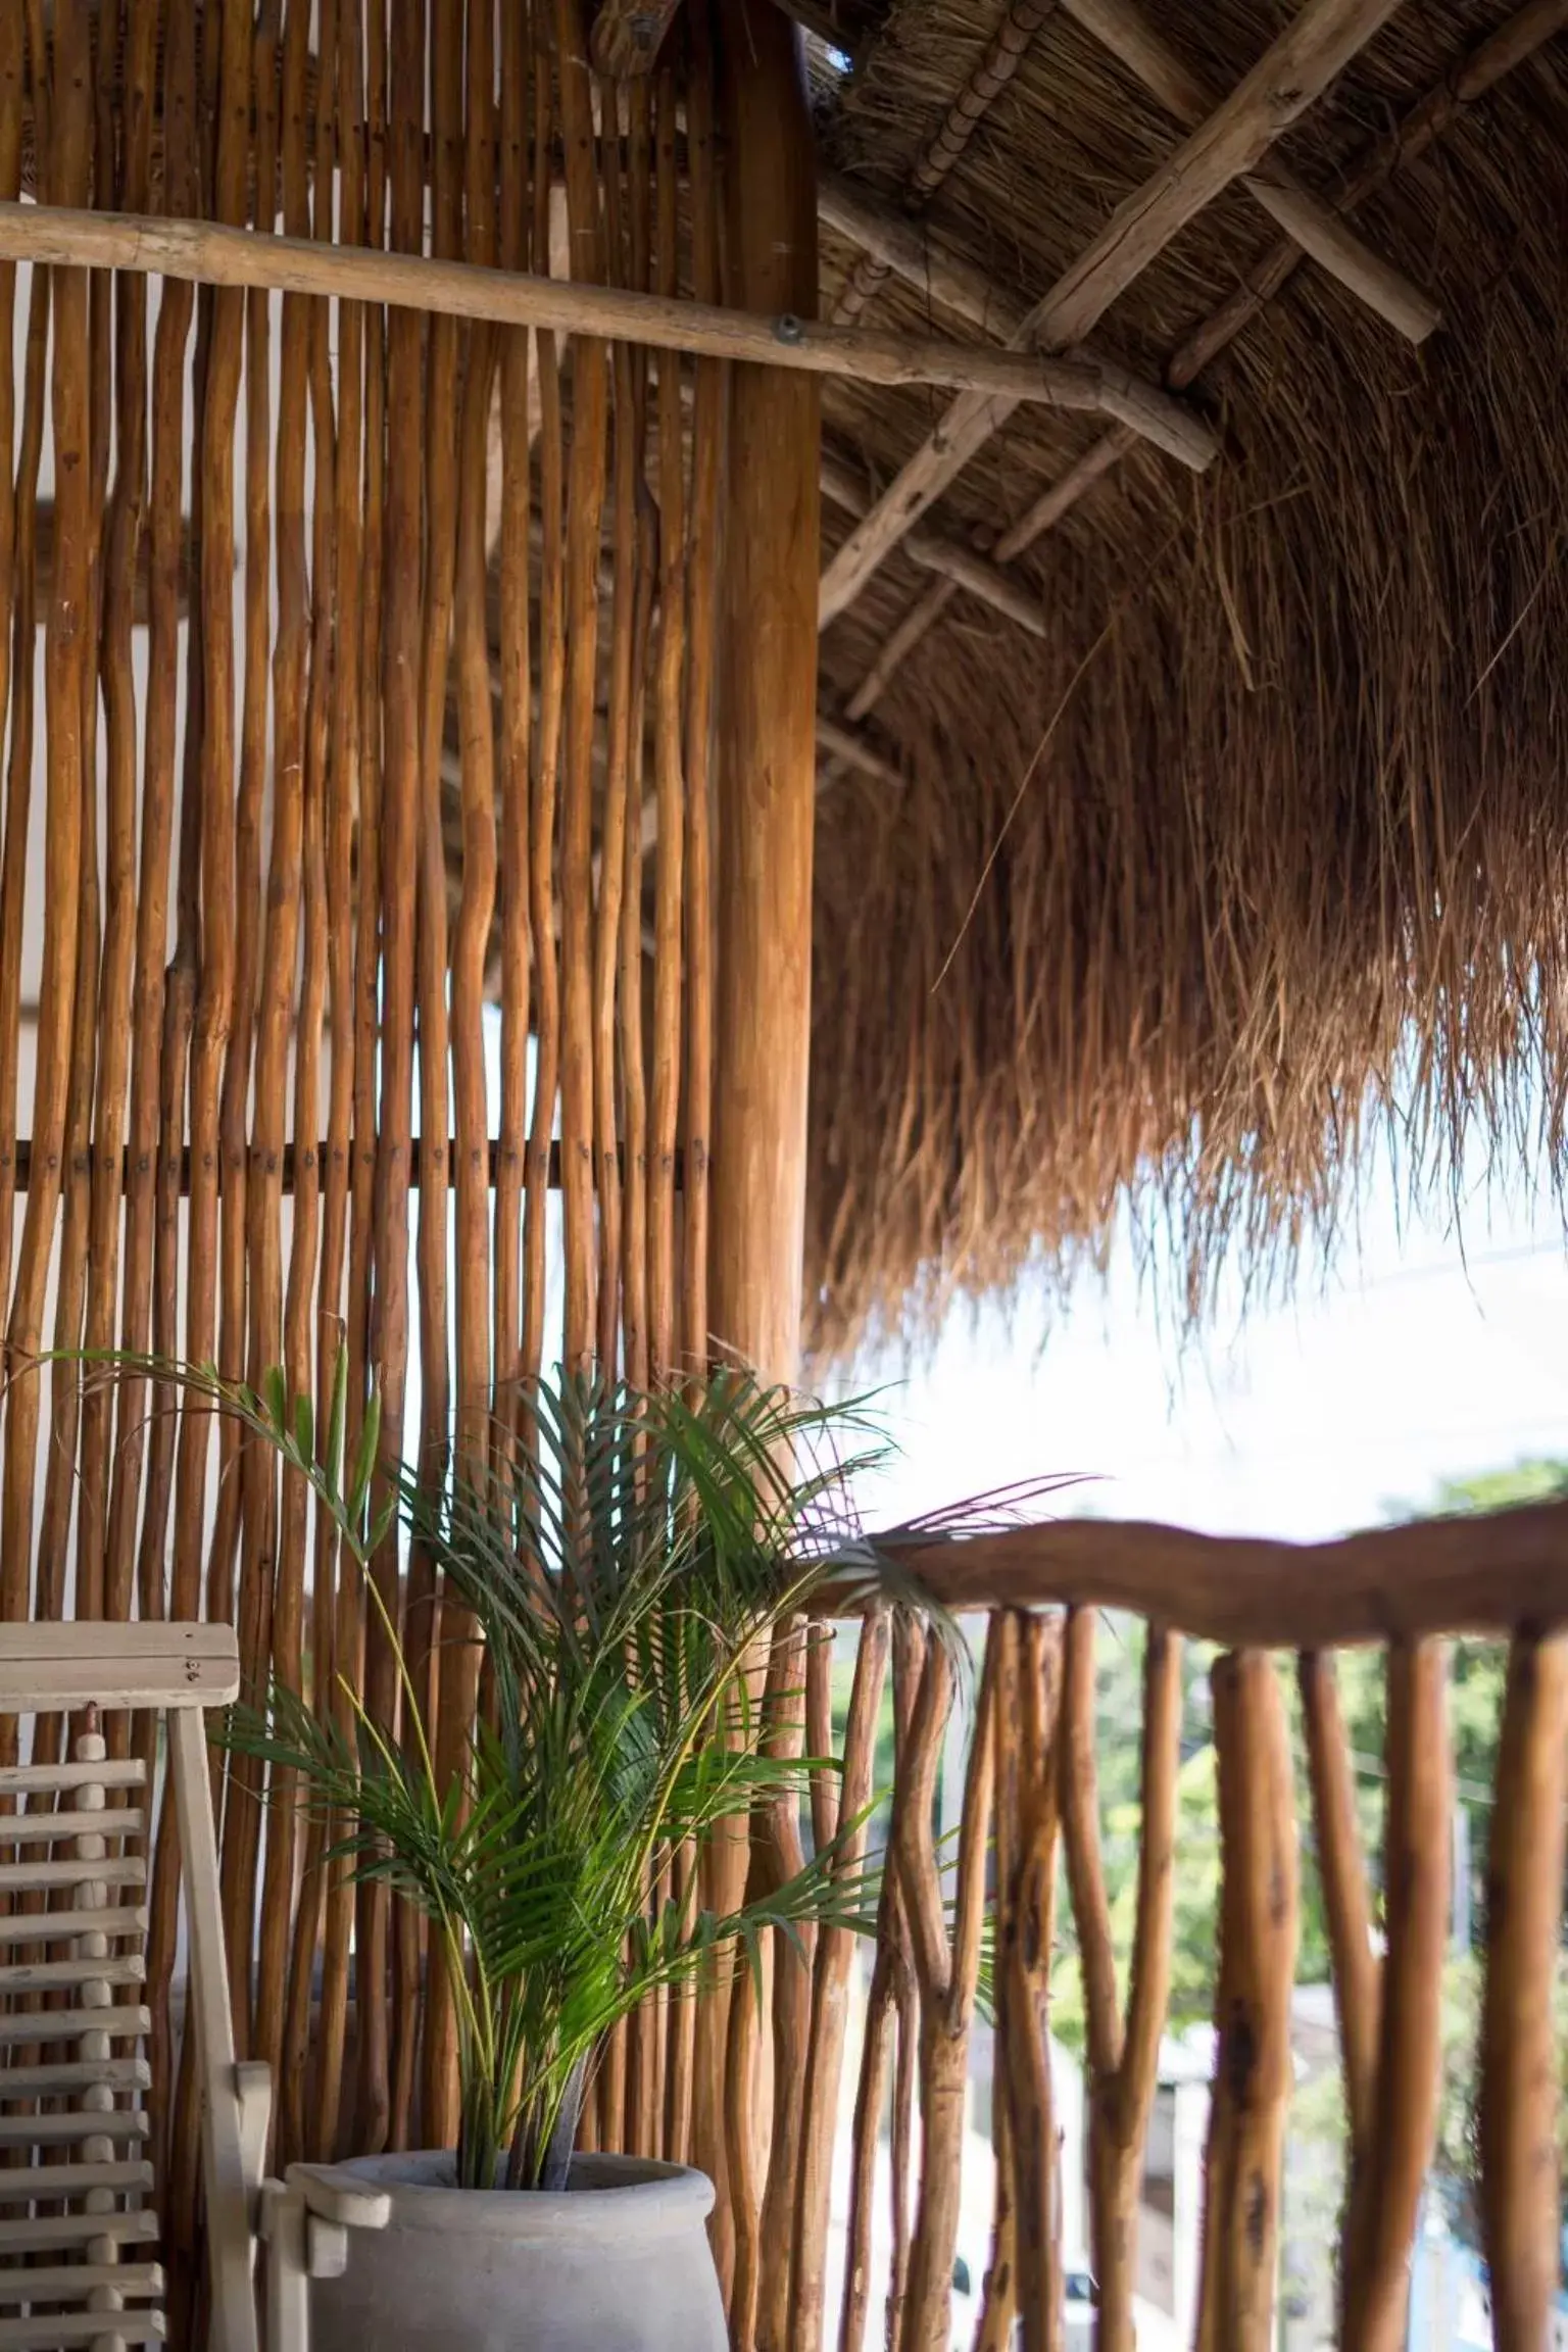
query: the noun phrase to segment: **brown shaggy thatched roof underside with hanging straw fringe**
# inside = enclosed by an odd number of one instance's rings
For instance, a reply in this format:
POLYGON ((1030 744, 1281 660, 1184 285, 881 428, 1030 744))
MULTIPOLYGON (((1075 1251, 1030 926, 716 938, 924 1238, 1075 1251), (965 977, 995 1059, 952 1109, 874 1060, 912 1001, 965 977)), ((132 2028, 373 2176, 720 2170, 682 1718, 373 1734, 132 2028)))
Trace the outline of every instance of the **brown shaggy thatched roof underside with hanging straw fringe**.
MULTIPOLYGON (((813 47, 825 158, 983 273, 999 315, 1180 139, 1074 21, 1086 0, 835 7, 851 61, 813 47), (950 115, 971 136, 947 134, 931 188, 950 115)), ((1143 0, 1215 96, 1291 16, 1143 0)), ((1561 1162, 1566 21, 1406 0, 1274 148, 1439 306, 1420 346, 1286 266, 1232 183, 1095 329, 1180 383, 1199 322, 1241 320, 1185 390, 1218 463, 1133 447, 1058 501, 1001 567, 1044 628, 907 543, 825 628, 820 710, 870 757, 827 760, 818 804, 820 1345, 1095 1249, 1128 1192, 1175 1223, 1194 1291, 1225 1249, 1279 1263, 1342 1216, 1371 1120, 1410 1176, 1453 1169, 1472 1127, 1561 1162), (922 600, 940 609, 889 666, 922 600)), ((936 275, 856 261, 825 226, 825 313, 976 336, 936 275)), ((945 402, 830 386, 842 487, 882 492, 945 402)), ((926 532, 997 548, 1103 440, 1018 409, 926 532)), ((827 546, 846 529, 827 501, 827 546)))

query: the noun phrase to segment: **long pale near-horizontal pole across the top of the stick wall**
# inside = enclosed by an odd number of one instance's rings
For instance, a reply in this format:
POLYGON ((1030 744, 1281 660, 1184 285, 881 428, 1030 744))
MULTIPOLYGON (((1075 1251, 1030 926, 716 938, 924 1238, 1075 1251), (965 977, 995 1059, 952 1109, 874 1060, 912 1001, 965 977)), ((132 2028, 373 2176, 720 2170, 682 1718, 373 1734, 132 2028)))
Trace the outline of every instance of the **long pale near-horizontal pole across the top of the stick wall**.
POLYGON ((423 254, 317 245, 310 238, 275 238, 216 221, 78 212, 66 205, 0 202, 0 261, 141 270, 193 285, 376 301, 442 318, 484 318, 654 350, 686 350, 708 360, 795 367, 856 383, 940 383, 959 393, 1114 416, 1199 473, 1218 454, 1213 433, 1192 409, 1100 360, 1006 353, 867 327, 823 327, 792 315, 755 318, 717 303, 491 270, 470 261, 428 261, 423 254))

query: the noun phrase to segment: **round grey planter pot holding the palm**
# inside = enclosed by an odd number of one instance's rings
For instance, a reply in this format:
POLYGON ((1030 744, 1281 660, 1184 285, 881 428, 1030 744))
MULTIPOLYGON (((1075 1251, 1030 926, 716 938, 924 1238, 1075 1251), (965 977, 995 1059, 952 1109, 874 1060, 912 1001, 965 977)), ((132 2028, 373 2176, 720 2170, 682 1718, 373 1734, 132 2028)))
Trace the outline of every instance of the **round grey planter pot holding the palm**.
POLYGON ((703 2173, 578 2157, 548 2194, 458 2190, 449 2154, 334 2171, 393 2211, 313 2281, 310 2352, 726 2352, 703 2173))

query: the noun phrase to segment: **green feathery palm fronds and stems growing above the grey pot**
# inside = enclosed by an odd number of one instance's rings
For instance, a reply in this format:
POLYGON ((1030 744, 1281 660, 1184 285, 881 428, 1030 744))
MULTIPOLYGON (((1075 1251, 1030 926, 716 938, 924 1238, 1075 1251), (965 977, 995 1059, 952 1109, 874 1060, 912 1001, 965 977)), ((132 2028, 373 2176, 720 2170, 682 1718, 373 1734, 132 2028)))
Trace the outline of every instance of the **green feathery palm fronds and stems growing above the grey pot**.
MULTIPOLYGON (((846 1479, 863 1414, 741 1374, 696 1392, 562 1374, 529 1385, 524 1435, 496 1428, 480 1472, 435 1477, 381 1463, 371 1392, 339 1496, 343 1350, 324 1463, 310 1402, 289 1409, 282 1371, 259 1397, 219 1381, 200 1395, 306 1470, 362 1562, 402 1524, 442 1592, 442 1661, 470 1630, 482 1653, 487 1708, 456 1778, 433 1764, 409 1665, 435 1628, 397 1623, 371 1578, 374 1639, 400 1682, 393 1722, 348 1686, 331 1705, 315 1693, 317 1715, 273 1684, 223 1729, 268 1766, 270 1790, 299 1795, 355 1877, 425 1917, 433 1957, 447 1957, 458 2178, 508 2164, 508 2178, 538 2180, 604 2037, 649 1992, 701 1983, 719 1952, 759 1969, 769 1936, 802 1947, 811 1926, 875 1924, 877 1867, 853 1853, 865 1820, 766 1898, 729 1915, 701 1900, 712 1839, 745 1837, 755 1813, 804 1811, 811 1776, 842 1769, 832 1752, 771 1755, 799 1693, 759 1700, 752 1682, 856 1541, 846 1479)), ((856 1569, 882 1590, 875 1555, 856 1552, 856 1569)))

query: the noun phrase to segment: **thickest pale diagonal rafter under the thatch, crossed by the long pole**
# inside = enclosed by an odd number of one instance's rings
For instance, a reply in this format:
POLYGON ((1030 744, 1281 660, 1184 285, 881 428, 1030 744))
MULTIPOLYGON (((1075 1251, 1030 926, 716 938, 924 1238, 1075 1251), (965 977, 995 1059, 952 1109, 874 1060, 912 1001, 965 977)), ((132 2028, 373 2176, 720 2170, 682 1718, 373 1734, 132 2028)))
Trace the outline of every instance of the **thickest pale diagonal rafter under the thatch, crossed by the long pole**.
MULTIPOLYGON (((1234 179, 1251 172, 1394 14, 1399 0, 1307 0, 1222 106, 1110 216, 1098 238, 1025 315, 1013 341, 1067 348, 1093 334, 1119 294, 1234 179)), ((856 524, 823 572, 820 621, 842 614, 971 456, 1013 414, 964 393, 856 524)))

